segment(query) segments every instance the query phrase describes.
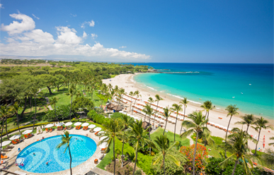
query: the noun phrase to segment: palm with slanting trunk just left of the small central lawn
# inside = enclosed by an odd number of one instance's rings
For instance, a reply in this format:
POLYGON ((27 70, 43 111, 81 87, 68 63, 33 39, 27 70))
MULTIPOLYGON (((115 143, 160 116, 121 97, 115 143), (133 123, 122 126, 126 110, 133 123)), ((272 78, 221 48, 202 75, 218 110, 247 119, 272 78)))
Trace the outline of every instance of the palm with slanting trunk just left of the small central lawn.
POLYGON ((144 130, 142 127, 142 123, 143 123, 142 120, 131 123, 129 130, 128 130, 128 133, 130 135, 129 139, 135 140, 135 146, 134 146, 134 148, 135 148, 135 166, 133 169, 133 175, 135 174, 139 147, 141 147, 141 146, 144 147, 145 144, 148 144, 150 147, 155 147, 154 143, 152 141, 149 141, 147 138, 145 138, 150 126, 146 130, 144 130))

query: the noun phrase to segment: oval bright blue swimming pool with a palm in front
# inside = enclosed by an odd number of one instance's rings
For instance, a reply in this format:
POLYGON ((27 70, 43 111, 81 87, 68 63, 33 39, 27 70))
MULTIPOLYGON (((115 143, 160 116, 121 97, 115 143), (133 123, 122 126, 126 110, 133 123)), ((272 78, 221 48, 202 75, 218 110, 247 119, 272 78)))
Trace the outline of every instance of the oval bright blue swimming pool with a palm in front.
MULTIPOLYGON (((72 167, 76 167, 89 159, 97 146, 94 140, 84 135, 70 134, 69 136, 72 136, 69 146, 72 154, 72 167)), ((23 163, 23 166, 18 167, 33 173, 52 173, 69 169, 69 150, 64 152, 66 145, 59 150, 56 149, 61 142, 61 135, 57 135, 28 145, 17 156, 16 162, 23 163), (46 162, 49 163, 46 164, 46 162)))

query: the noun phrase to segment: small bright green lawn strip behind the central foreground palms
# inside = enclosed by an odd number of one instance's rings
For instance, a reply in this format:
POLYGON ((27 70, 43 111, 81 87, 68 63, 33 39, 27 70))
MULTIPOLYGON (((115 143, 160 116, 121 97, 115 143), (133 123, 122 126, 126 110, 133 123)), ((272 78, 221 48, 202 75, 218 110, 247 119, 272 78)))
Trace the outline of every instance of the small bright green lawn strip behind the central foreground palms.
MULTIPOLYGON (((151 138, 152 141, 156 140, 156 137, 157 136, 159 137, 160 135, 163 135, 163 133, 164 133, 163 128, 157 128, 157 130, 150 135, 150 138, 151 138)), ((166 133, 166 137, 169 138, 169 140, 171 140, 171 142, 173 142, 174 133, 168 132, 168 133, 166 133)), ((179 142, 180 147, 190 145, 190 140, 188 138, 181 138, 180 135, 178 135, 178 134, 175 135, 175 140, 179 142)))

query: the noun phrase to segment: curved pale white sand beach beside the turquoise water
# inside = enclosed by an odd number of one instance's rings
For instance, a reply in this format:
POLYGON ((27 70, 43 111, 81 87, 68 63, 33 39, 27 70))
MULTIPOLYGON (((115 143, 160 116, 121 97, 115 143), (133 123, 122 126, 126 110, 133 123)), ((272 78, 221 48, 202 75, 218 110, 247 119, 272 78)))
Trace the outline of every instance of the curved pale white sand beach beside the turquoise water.
MULTIPOLYGON (((137 75, 137 73, 135 73, 135 75, 137 75)), ((135 80, 133 80, 133 76, 135 76, 133 74, 121 74, 119 76, 116 76, 115 78, 110 78, 110 79, 105 79, 103 80, 103 83, 105 84, 111 84, 113 85, 113 87, 115 85, 118 85, 118 87, 122 87, 125 89, 125 92, 127 92, 127 94, 132 91, 135 92, 136 90, 139 90, 140 95, 142 95, 142 97, 139 97, 139 99, 142 99, 142 102, 144 102, 144 100, 149 99, 149 97, 152 97, 153 99, 155 99, 155 95, 158 94, 160 95, 160 97, 162 97, 164 100, 161 100, 159 102, 159 105, 163 106, 163 107, 171 107, 171 105, 173 103, 177 103, 181 101, 181 99, 177 98, 177 97, 173 97, 171 95, 168 95, 164 92, 158 92, 156 90, 152 90, 149 87, 146 87, 144 85, 142 85, 142 83, 136 83, 135 80)), ((228 104, 229 105, 229 104, 228 104)), ((188 103, 188 107, 185 110, 185 114, 190 114, 195 110, 202 110, 202 108, 200 107, 200 104, 195 104, 195 102, 189 102, 188 103)), ((237 116, 232 116, 232 121, 230 123, 229 128, 234 128, 234 127, 238 127, 241 128, 241 124, 234 124, 236 123, 236 121, 241 121, 241 119, 239 118, 239 116, 242 116, 244 114, 239 114, 237 116)), ((213 109, 212 111, 210 111, 210 122, 214 122, 217 123, 219 125, 222 126, 226 126, 229 123, 229 118, 227 117, 227 111, 223 110, 223 109, 213 109), (221 117, 222 119, 218 119, 218 117, 221 117)), ((187 118, 185 118, 187 119, 187 118)), ((270 121, 270 125, 273 126, 274 121, 273 120, 269 120, 270 121)), ((215 136, 219 136, 221 138, 225 138, 225 131, 219 129, 219 128, 215 128, 214 126, 210 126, 207 125, 208 128, 210 129, 210 131, 212 131, 212 135, 215 136)), ((168 123, 166 128, 169 131, 174 131, 174 124, 172 123, 168 123)), ((181 128, 181 121, 177 121, 177 127, 176 127, 176 133, 180 133, 180 128, 181 128)), ((246 130, 246 126, 243 126, 243 129, 246 130)), ((251 135, 256 135, 256 137, 258 138, 258 132, 256 132, 253 128, 249 128, 249 133, 251 135)), ((266 148, 270 147, 271 149, 274 150, 273 146, 269 146, 268 143, 272 143, 274 142, 274 140, 269 140, 270 137, 274 136, 274 131, 267 129, 267 130, 262 130, 261 131, 261 135, 260 135, 260 139, 259 139, 259 143, 258 143, 258 147, 260 147, 262 150, 265 150, 266 148), (270 131, 270 132, 269 132, 270 131), (263 148, 263 136, 266 136, 266 147, 263 148)), ((254 150, 256 147, 256 144, 249 141, 249 147, 254 150)))

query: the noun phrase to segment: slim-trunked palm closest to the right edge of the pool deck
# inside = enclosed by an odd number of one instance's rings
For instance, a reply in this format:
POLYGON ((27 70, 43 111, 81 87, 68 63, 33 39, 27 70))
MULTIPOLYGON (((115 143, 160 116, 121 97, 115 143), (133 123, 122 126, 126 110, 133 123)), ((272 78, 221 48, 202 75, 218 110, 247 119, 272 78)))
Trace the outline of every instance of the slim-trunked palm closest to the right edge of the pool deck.
POLYGON ((103 124, 103 130, 104 133, 101 135, 107 136, 107 138, 101 140, 98 145, 101 145, 103 142, 108 142, 108 147, 110 146, 110 143, 113 142, 113 159, 114 159, 114 175, 115 175, 115 138, 119 135, 119 133, 122 131, 122 124, 120 121, 116 119, 110 119, 110 121, 105 122, 103 124))

